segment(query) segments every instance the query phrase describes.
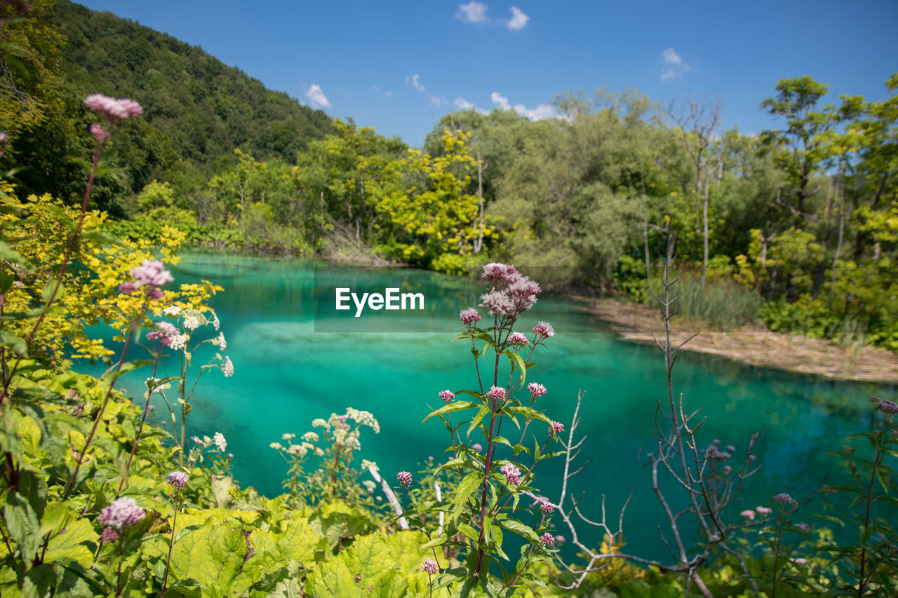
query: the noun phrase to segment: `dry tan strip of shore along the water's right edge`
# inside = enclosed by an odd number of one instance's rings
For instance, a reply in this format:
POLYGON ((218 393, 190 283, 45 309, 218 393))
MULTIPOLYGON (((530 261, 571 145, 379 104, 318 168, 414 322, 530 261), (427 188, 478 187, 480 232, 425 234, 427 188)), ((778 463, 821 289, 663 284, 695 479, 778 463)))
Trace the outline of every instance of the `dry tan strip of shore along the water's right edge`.
MULTIPOLYGON (((659 340, 664 338, 664 325, 657 310, 647 305, 613 299, 580 299, 587 311, 610 322, 612 330, 625 339, 654 344, 653 331, 659 340)), ((838 380, 898 383, 898 354, 881 348, 846 348, 829 340, 770 332, 758 326, 722 332, 674 321, 674 343, 682 343, 696 333, 683 350, 838 380)))

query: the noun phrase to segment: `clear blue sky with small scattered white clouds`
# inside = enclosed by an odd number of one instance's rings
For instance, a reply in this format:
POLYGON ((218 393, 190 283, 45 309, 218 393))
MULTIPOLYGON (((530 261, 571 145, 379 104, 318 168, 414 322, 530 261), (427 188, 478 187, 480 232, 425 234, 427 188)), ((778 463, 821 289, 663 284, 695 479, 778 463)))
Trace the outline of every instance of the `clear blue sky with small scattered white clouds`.
POLYGON ((164 31, 270 89, 421 145, 473 105, 550 114, 559 94, 635 88, 667 103, 720 97, 724 127, 773 126, 760 108, 784 77, 886 97, 898 2, 308 2, 84 0, 164 31))

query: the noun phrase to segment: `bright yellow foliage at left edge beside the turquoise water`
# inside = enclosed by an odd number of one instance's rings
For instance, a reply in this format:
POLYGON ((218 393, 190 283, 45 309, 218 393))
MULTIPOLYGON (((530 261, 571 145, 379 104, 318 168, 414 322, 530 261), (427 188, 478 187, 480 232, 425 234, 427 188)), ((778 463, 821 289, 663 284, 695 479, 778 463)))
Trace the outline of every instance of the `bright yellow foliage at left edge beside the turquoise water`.
MULTIPOLYGON (((11 264, 15 283, 4 296, 4 311, 30 312, 46 303, 42 296, 55 286, 59 269, 70 251, 72 236, 80 217, 80 210, 66 207, 49 195, 30 196, 19 201, 12 195, 13 187, 0 180, 6 192, 4 202, 27 212, 25 218, 6 213, 0 215, 4 225, 4 240, 28 263, 30 271, 11 264)), ((113 351, 101 339, 90 338, 84 328, 99 322, 109 324, 124 334, 143 309, 143 299, 137 295, 123 295, 118 286, 131 280, 131 269, 145 259, 161 259, 166 265, 180 261, 176 252, 185 233, 163 226, 162 242, 112 242, 99 236, 107 215, 97 210, 84 215, 84 224, 72 257, 66 268, 62 286, 53 302, 55 309, 44 316, 31 340, 30 350, 38 350, 51 359, 97 359, 111 356, 113 351)), ((5 269, 5 268, 4 268, 5 269)), ((163 299, 153 305, 154 315, 172 303, 207 312, 207 299, 222 290, 207 281, 202 285, 181 285, 177 290, 165 290, 163 299)), ((31 333, 35 318, 9 321, 7 330, 22 339, 31 333)), ((149 323, 144 316, 143 324, 149 323)))

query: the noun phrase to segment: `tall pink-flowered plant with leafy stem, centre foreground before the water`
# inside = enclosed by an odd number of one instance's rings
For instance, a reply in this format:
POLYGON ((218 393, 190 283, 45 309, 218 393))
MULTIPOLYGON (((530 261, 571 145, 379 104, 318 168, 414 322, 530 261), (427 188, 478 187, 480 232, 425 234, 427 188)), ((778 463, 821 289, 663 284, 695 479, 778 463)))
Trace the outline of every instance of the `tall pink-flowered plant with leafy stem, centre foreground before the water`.
MULTIPOLYGON (((480 586, 489 595, 505 595, 518 585, 541 584, 528 568, 551 558, 552 506, 531 504, 530 500, 522 506, 520 499, 524 492, 536 490, 536 464, 564 453, 546 450, 558 441, 564 427, 536 409, 547 389, 527 380, 528 371, 536 365, 536 348, 544 347, 555 330, 544 321, 533 327, 532 335, 515 330, 520 316, 536 303, 540 286, 506 264, 486 265, 482 277, 489 290, 480 296, 480 307, 489 316, 483 320, 473 307, 462 311, 459 317, 465 330, 454 339, 471 342, 476 386, 439 392, 445 405, 425 418, 440 418, 445 424, 452 458, 441 469, 451 470, 461 482, 453 498, 416 501, 404 514, 414 515, 409 517, 409 525, 423 528, 430 538, 426 547, 432 549, 434 558, 428 559, 426 570, 432 576, 432 586, 453 585, 453 593, 457 590, 460 595, 480 586), (479 325, 481 321, 487 326, 479 325), (460 395, 465 396, 462 399, 460 395), (453 423, 456 413, 464 418, 453 423), (528 431, 533 440, 527 437, 528 431), (432 512, 447 515, 441 517, 444 524, 436 530, 419 523, 427 522, 423 515, 432 512), (525 542, 513 567, 509 567, 512 561, 503 548, 506 532, 525 542), (437 547, 442 547, 443 555, 437 554, 437 547), (458 554, 462 566, 444 567, 443 563, 449 565, 445 555, 450 554, 458 554), (492 563, 503 574, 498 582, 487 575, 492 563)), ((409 477, 400 478, 401 486, 409 487, 409 477)))

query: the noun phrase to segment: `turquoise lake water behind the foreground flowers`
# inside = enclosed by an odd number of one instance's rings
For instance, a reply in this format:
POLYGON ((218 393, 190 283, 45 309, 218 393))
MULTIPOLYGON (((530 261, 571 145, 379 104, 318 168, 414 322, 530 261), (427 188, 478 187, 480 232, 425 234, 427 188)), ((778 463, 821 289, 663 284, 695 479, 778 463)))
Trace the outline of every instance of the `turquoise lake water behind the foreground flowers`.
MULTIPOLYGON (((428 456, 442 458, 445 428, 421 420, 430 407, 442 405, 438 391, 476 385, 470 346, 450 341, 462 330, 458 311, 476 302, 480 286, 417 270, 329 269, 326 277, 318 273, 319 284, 324 281, 330 289, 322 296, 313 292, 315 270, 307 262, 202 254, 186 256, 172 274, 179 283, 207 278, 225 287, 212 305, 235 374, 204 376, 192 400, 188 435, 222 432, 234 455, 234 476, 244 487, 277 494, 286 470, 269 443, 286 432, 301 435, 311 429, 313 418, 347 407, 371 411, 380 421, 379 435, 363 432, 362 456, 377 462, 385 478, 417 470, 428 456), (365 312, 356 319, 355 309, 332 309, 335 285, 414 289, 427 297, 426 310, 365 312), (348 331, 359 327, 373 331, 348 331)), ((528 374, 528 381, 549 389, 538 407, 569 427, 577 391, 585 391, 578 432, 587 436, 583 459, 589 463, 570 489, 577 495, 586 492, 586 516, 601 516, 604 495, 614 522, 633 490, 624 518, 629 550, 663 557, 656 532, 663 514, 651 492, 650 471, 638 462, 640 450, 653 450, 656 400, 666 396, 660 351, 616 339, 580 303, 564 298, 541 298, 524 320, 518 330, 529 332, 537 320, 550 321, 558 330, 528 374)), ((202 354, 196 359, 205 363, 202 354)), ((176 364, 163 364, 161 372, 175 374, 176 364)), ((139 396, 147 375, 136 373, 122 386, 139 396)), ((754 451, 762 470, 745 482, 744 502, 733 506, 734 518, 744 508, 770 505, 779 492, 803 499, 827 472, 836 475, 838 468, 826 452, 868 427, 867 398, 896 396, 894 386, 837 383, 685 352, 677 361, 674 385, 689 409, 704 409, 701 443, 718 438, 724 446, 734 444, 738 463, 751 435, 763 428, 754 451)), ((163 411, 160 402, 156 413, 163 411)), ((539 434, 544 437, 544 431, 539 434)), ((558 500, 562 465, 557 459, 539 466, 538 485, 553 501, 558 500)), ((813 510, 807 515, 811 522, 813 510)), ((581 535, 598 541, 590 533, 581 535)))

